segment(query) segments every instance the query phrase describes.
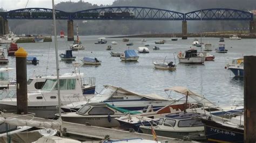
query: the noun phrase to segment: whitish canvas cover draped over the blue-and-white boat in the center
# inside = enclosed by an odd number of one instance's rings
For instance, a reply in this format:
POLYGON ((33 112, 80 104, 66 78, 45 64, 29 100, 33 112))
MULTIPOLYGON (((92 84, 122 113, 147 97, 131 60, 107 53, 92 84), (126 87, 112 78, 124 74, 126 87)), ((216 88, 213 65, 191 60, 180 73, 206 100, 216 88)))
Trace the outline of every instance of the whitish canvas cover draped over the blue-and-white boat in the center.
POLYGON ((120 87, 115 87, 113 85, 104 85, 104 88, 102 89, 102 91, 100 91, 99 94, 93 96, 90 99, 90 102, 103 102, 114 95, 140 96, 140 97, 145 97, 147 99, 152 99, 152 100, 167 101, 166 98, 163 98, 156 94, 143 95, 143 94, 138 94, 136 92, 129 91, 120 87))

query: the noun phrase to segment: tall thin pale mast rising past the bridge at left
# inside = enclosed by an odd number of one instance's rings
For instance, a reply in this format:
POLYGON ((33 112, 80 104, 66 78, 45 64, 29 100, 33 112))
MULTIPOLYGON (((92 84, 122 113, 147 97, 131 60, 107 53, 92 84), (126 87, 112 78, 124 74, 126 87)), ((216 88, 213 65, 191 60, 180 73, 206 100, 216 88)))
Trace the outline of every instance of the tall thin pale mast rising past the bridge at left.
MULTIPOLYGON (((62 120, 61 116, 61 101, 60 101, 60 90, 59 90, 59 56, 58 56, 58 45, 57 45, 57 32, 56 32, 56 18, 55 18, 55 5, 54 0, 52 0, 52 17, 53 17, 53 30, 54 30, 54 42, 55 42, 55 58, 56 58, 56 71, 57 71, 57 89, 58 89, 58 110, 59 110, 59 119, 62 120)), ((62 137, 62 126, 59 127, 60 137, 62 137)))

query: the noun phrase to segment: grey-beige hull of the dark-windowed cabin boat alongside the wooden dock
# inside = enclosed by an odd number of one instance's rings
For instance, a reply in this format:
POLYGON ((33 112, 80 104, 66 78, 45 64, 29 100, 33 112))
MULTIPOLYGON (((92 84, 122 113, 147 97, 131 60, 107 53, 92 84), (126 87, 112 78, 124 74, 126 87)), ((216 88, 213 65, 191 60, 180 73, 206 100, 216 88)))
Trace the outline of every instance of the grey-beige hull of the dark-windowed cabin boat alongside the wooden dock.
POLYGON ((120 126, 119 122, 115 119, 116 117, 117 116, 113 115, 110 115, 110 117, 65 117, 65 115, 63 115, 62 120, 84 125, 89 123, 92 126, 99 127, 116 127, 120 126))

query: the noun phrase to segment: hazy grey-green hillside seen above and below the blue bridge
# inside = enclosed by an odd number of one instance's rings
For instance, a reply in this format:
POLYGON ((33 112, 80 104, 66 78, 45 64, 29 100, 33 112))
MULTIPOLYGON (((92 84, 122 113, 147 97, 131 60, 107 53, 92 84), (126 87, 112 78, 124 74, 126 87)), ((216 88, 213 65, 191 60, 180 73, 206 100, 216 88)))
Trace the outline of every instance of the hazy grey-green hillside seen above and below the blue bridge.
MULTIPOLYGON (((167 9, 178 12, 189 12, 208 8, 231 8, 240 10, 252 10, 256 7, 255 0, 116 0, 112 5, 93 5, 91 3, 61 2, 56 4, 56 9, 63 11, 79 11, 104 6, 145 6, 152 8, 167 9)), ((0 9, 1 10, 1 9, 0 9)), ((148 33, 181 33, 180 21, 114 21, 114 20, 91 20, 82 23, 82 20, 74 21, 74 30, 79 26, 81 35, 98 34, 148 34, 148 33)), ((51 34, 52 20, 9 20, 12 31, 17 34, 51 34)), ((203 21, 187 22, 188 32, 223 31, 234 28, 248 28, 248 22, 227 21, 203 21)), ((67 31, 66 20, 57 20, 57 31, 67 31)))

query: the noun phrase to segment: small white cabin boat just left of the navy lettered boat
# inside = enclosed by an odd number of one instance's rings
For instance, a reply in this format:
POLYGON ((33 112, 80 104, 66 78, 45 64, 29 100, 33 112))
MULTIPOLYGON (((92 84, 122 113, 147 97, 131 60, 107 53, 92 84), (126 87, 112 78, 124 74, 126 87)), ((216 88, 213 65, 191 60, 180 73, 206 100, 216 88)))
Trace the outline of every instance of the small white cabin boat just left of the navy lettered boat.
MULTIPOLYGON (((194 118, 205 117, 205 115, 193 112, 172 113, 161 117, 157 126, 153 126, 157 135, 176 138, 204 141, 204 124, 194 118)), ((152 126, 139 126, 146 134, 152 134, 152 126)))

